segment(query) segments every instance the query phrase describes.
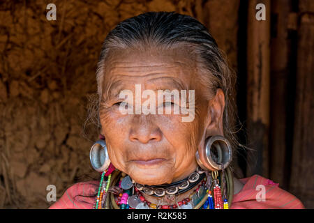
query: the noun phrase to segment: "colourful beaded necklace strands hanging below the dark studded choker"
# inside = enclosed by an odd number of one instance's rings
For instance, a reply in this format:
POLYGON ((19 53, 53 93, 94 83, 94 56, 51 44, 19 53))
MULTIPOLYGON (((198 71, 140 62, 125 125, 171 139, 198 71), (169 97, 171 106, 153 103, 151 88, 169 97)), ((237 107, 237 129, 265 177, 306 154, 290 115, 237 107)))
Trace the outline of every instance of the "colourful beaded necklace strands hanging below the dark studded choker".
MULTIPOLYGON (((107 201, 108 192, 110 188, 110 183, 112 183, 112 171, 107 172, 104 171, 101 174, 100 178, 100 185, 98 187, 98 194, 95 199, 94 203, 94 209, 104 209, 105 203, 107 201), (106 177, 107 175, 107 177, 106 177), (106 178, 106 179, 105 179, 106 178)), ((176 208, 194 208, 194 209, 229 209, 229 204, 228 200, 225 198, 226 197, 226 192, 224 189, 224 193, 222 195, 221 189, 220 189, 220 176, 218 176, 218 172, 212 172, 211 176, 208 175, 207 179, 202 180, 200 185, 198 185, 197 189, 193 194, 190 195, 190 197, 183 199, 182 201, 177 202, 175 205, 157 205, 155 203, 150 203, 149 201, 146 201, 144 199, 144 196, 142 196, 142 192, 140 192, 136 187, 135 187, 135 193, 134 190, 123 190, 123 192, 119 193, 119 196, 117 199, 114 199, 112 197, 112 206, 116 206, 117 208, 120 209, 176 209, 176 208), (213 174, 214 173, 214 174, 213 174), (212 177, 211 177, 212 176, 212 177), (214 185, 211 185, 211 180, 214 180, 214 185), (214 187, 213 187, 214 186, 214 187), (211 187, 213 187, 213 190, 211 190, 211 187), (200 200, 199 203, 193 203, 191 200, 193 200, 193 196, 195 197, 195 193, 199 192, 200 189, 206 190, 206 194, 204 194, 204 197, 200 200), (212 196, 212 192, 214 192, 214 197, 212 196), (135 195, 136 194, 136 195, 135 195), (224 199, 223 199, 224 197, 224 199), (138 199, 137 201, 130 200, 130 199, 138 199), (114 202, 114 203, 113 203, 114 202), (135 204, 137 205, 135 206, 135 204), (132 203, 132 204, 131 204, 132 203), (193 207, 194 206, 194 207, 193 207)), ((224 178, 223 178, 224 179, 224 178)), ((231 181, 229 179, 229 181, 231 181)), ((119 183, 119 187, 121 189, 121 180, 119 183)), ((121 189, 122 190, 122 189, 121 189)), ((232 195, 230 196, 230 190, 232 191, 231 194, 233 194, 233 184, 231 189, 229 188, 229 196, 230 197, 230 202, 232 201, 232 195)), ((197 197, 199 195, 197 194, 197 197)), ((229 202, 229 203, 230 203, 229 202)), ((117 209, 116 208, 116 209, 117 209)))

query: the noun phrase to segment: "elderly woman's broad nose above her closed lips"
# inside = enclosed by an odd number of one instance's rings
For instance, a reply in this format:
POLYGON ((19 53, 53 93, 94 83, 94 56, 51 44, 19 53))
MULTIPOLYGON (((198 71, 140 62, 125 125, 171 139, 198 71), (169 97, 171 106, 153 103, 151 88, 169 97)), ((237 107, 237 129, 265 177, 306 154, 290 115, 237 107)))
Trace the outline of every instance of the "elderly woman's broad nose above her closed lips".
POLYGON ((130 129, 129 139, 133 142, 147 144, 149 142, 160 141, 162 133, 158 126, 154 125, 147 118, 136 118, 130 129))

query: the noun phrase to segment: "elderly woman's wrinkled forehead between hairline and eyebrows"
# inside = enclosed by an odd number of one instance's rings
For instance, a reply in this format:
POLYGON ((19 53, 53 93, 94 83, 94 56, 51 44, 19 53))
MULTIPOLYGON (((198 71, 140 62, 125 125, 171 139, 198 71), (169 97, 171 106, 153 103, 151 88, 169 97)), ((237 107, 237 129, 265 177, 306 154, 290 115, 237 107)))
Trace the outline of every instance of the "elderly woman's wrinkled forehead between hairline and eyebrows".
POLYGON ((105 62, 105 82, 123 82, 140 84, 190 83, 197 72, 196 63, 186 54, 178 54, 177 50, 170 52, 130 51, 116 52, 105 62))

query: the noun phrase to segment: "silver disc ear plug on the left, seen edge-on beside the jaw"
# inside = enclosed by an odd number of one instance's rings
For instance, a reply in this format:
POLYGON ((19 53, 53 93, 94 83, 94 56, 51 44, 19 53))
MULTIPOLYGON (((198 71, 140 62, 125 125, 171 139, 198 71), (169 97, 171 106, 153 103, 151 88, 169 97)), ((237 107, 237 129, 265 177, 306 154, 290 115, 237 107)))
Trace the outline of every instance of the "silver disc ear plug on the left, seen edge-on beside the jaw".
POLYGON ((91 146, 89 152, 89 159, 91 160, 91 166, 98 172, 103 172, 108 169, 110 165, 110 159, 107 151, 106 142, 104 140, 98 140, 91 146))

